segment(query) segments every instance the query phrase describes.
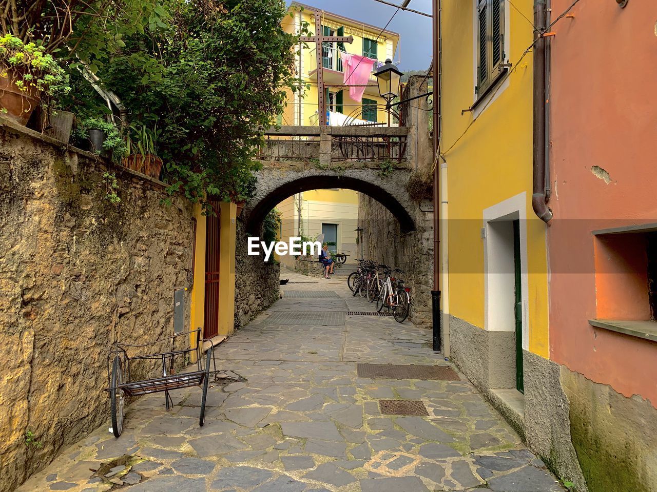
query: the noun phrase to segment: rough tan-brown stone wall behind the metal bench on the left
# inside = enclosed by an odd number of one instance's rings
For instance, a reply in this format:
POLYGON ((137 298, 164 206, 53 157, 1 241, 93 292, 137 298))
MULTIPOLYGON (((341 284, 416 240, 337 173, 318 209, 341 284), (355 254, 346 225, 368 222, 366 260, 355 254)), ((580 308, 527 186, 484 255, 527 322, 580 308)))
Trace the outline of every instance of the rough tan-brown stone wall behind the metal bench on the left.
MULTIPOLYGON (((173 333, 193 211, 162 184, 11 123, 0 126, 0 491, 109 418, 116 339, 173 333), (121 199, 105 195, 116 173, 121 199)), ((189 293, 187 293, 189 327, 189 293)), ((144 372, 145 368, 141 371, 144 372)), ((137 374, 139 377, 141 374, 137 374)))

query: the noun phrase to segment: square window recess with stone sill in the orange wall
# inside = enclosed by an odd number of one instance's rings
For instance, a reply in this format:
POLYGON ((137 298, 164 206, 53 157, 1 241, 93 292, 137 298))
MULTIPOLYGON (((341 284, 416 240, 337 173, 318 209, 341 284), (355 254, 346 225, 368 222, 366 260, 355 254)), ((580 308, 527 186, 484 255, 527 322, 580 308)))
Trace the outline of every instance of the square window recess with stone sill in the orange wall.
POLYGON ((657 341, 657 224, 593 231, 596 318, 589 323, 657 341))

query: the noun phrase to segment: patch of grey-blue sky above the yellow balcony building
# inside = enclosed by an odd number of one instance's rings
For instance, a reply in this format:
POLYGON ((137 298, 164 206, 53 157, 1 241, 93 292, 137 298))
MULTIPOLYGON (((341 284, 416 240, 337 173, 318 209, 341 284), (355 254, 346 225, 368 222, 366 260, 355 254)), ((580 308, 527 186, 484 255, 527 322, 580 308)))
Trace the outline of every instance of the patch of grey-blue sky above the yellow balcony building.
MULTIPOLYGON (((340 14, 372 26, 384 28, 395 7, 378 3, 375 0, 298 0, 300 3, 340 14)), ((401 3, 401 0, 388 0, 391 3, 401 3)), ((292 0, 286 0, 287 5, 292 0)), ((411 0, 409 9, 420 10, 431 14, 431 0, 411 0)), ((399 33, 400 47, 395 54, 396 60, 401 60, 399 70, 426 70, 431 64, 431 18, 413 12, 399 10, 388 25, 388 29, 399 33)))

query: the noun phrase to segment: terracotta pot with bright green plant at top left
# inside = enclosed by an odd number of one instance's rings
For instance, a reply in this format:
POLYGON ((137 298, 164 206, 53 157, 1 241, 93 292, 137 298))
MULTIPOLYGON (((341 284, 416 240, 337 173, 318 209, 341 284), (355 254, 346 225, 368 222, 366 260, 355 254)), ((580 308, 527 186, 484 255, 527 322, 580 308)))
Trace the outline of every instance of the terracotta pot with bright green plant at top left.
POLYGON ((0 111, 26 125, 39 103, 70 91, 68 75, 35 43, 7 33, 0 37, 0 111))

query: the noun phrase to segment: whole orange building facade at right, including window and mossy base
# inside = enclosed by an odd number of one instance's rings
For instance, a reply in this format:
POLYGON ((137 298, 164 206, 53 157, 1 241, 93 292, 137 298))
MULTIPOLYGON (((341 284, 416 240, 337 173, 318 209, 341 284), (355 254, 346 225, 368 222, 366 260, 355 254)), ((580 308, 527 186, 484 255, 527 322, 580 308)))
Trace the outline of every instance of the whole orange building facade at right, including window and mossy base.
POLYGON ((549 74, 550 359, 595 492, 657 490, 657 10, 622 5, 570 10, 549 74))

